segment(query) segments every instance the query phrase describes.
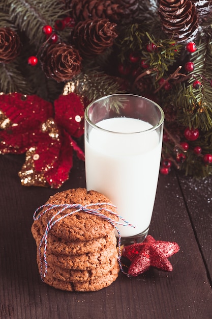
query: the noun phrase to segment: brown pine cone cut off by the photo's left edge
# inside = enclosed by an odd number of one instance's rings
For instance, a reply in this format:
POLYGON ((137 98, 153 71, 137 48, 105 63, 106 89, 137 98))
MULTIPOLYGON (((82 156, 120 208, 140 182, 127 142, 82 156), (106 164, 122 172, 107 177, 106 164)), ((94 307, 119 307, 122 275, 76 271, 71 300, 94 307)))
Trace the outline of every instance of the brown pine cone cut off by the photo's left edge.
POLYGON ((20 54, 21 42, 18 34, 10 28, 0 29, 0 63, 9 63, 20 54))

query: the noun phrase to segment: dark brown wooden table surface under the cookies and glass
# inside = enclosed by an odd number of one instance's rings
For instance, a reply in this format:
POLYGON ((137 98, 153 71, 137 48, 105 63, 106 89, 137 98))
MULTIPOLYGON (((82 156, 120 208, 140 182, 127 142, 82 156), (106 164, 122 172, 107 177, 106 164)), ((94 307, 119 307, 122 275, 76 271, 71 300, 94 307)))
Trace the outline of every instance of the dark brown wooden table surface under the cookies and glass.
POLYGON ((179 245, 169 257, 172 272, 120 273, 107 288, 72 293, 41 282, 31 225, 50 195, 85 187, 84 163, 75 159, 70 179, 52 190, 23 187, 17 175, 23 162, 20 155, 0 155, 0 318, 212 318, 212 178, 175 171, 159 177, 149 234, 179 245))

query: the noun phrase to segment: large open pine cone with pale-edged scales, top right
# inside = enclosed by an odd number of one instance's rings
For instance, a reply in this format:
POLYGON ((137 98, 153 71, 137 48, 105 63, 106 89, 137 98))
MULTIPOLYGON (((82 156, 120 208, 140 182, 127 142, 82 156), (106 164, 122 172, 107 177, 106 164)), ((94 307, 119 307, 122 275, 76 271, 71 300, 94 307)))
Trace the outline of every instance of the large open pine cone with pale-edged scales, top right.
POLYGON ((196 34, 198 17, 190 0, 159 0, 162 30, 172 39, 183 42, 196 34))

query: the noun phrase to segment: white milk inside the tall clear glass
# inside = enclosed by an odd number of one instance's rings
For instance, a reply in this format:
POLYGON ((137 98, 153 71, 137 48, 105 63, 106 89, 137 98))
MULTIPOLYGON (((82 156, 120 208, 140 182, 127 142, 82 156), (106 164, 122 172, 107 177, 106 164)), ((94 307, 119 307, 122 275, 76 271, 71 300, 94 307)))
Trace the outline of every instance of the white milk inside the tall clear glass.
POLYGON ((152 217, 161 157, 159 134, 133 134, 152 125, 132 118, 106 119, 96 125, 110 132, 92 128, 89 142, 85 139, 87 190, 104 194, 118 214, 136 226, 118 226, 122 237, 139 234, 148 229, 152 217))

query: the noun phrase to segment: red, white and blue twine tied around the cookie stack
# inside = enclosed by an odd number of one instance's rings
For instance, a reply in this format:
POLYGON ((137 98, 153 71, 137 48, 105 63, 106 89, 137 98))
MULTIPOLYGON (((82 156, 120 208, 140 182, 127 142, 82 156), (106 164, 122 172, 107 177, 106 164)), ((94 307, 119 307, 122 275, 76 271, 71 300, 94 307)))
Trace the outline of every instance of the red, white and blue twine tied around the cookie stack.
POLYGON ((114 206, 113 204, 111 203, 92 203, 92 204, 87 204, 85 206, 81 205, 81 204, 45 204, 45 205, 42 205, 40 207, 38 207, 36 209, 36 211, 34 212, 33 214, 33 219, 36 221, 36 220, 39 220, 44 214, 46 214, 46 212, 48 212, 49 210, 51 209, 55 209, 55 208, 60 208, 56 214, 54 214, 51 219, 48 221, 47 223, 47 226, 46 226, 46 229, 45 229, 45 232, 44 232, 44 235, 43 237, 41 238, 41 241, 40 241, 40 244, 39 244, 39 248, 38 248, 38 251, 39 251, 39 259, 40 259, 40 276, 41 276, 41 280, 44 281, 44 278, 46 277, 46 274, 47 274, 47 269, 48 269, 48 263, 47 263, 47 258, 46 258, 46 250, 47 250, 47 237, 48 237, 48 233, 50 231, 50 229, 59 221, 63 220, 64 218, 68 217, 68 216, 71 216, 73 214, 75 214, 76 212, 86 212, 87 214, 92 214, 92 215, 95 215, 95 216, 98 216, 106 221, 108 221, 117 231, 118 233, 118 241, 117 241, 117 245, 118 245, 118 264, 119 264, 119 268, 120 270, 127 276, 129 276, 127 273, 124 272, 123 270, 123 267, 122 267, 122 263, 121 263, 121 257, 122 257, 122 252, 121 252, 121 235, 120 235, 120 231, 118 230, 117 226, 116 225, 121 225, 121 226, 129 226, 129 227, 134 227, 132 224, 130 224, 129 222, 127 222, 123 217, 117 215, 114 211, 110 210, 110 209, 107 209, 105 207, 101 207, 101 206, 104 206, 104 205, 109 205, 111 207, 114 207, 116 208, 116 206, 114 206), (95 206, 100 206, 98 208, 93 208, 95 206), (43 208, 45 208, 43 211, 41 211, 43 208), (91 208, 89 208, 91 207, 91 208), (63 215, 63 216, 60 216, 58 218, 56 218, 59 214, 61 214, 63 211, 65 211, 66 209, 68 208, 76 208, 75 210, 73 211, 70 211, 68 212, 67 214, 63 215), (116 221, 113 221, 111 218, 103 215, 101 213, 101 210, 105 210, 105 211, 108 211, 110 214, 112 215, 115 215, 116 217, 118 217, 120 220, 122 220, 124 223, 120 223, 120 222, 116 222, 116 221), (40 212, 40 214, 36 217, 36 215, 40 212), (42 248, 42 245, 44 243, 44 253, 43 253, 43 260, 42 260, 42 255, 41 255, 41 248, 42 248), (44 267, 45 267, 45 270, 44 270, 44 274, 43 274, 43 263, 44 263, 44 267))

